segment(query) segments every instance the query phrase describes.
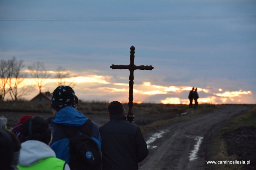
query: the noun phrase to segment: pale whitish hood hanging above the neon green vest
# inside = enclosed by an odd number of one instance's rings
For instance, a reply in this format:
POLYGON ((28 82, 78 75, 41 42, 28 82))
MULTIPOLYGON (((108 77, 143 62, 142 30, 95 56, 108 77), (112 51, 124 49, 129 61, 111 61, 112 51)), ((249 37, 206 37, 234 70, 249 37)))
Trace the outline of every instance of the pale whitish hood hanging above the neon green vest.
POLYGON ((30 167, 47 157, 56 157, 48 145, 38 140, 27 140, 21 144, 19 165, 30 167))

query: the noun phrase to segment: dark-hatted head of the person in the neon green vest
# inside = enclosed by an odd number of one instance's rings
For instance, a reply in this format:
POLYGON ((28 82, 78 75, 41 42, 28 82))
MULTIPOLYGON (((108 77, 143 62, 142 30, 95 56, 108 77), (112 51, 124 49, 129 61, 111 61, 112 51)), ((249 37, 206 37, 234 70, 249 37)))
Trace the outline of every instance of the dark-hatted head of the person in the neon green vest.
POLYGON ((51 142, 52 132, 48 122, 41 117, 28 118, 21 125, 23 141, 38 140, 48 145, 51 142))

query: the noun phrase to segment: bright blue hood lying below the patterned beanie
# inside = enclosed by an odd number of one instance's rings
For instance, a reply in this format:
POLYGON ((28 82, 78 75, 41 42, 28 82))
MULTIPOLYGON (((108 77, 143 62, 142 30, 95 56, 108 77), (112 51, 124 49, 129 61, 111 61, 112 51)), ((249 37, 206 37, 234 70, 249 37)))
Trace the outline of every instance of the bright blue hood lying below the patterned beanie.
POLYGON ((75 108, 68 106, 62 108, 52 119, 52 122, 65 126, 82 126, 88 118, 75 108))

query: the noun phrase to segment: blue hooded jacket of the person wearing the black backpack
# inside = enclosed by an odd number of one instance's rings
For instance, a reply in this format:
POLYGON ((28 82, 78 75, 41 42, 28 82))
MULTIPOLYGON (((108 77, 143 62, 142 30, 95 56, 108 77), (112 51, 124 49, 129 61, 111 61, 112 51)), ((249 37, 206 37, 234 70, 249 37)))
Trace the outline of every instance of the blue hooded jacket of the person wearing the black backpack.
MULTIPOLYGON (((66 136, 65 132, 56 124, 62 124, 70 127, 79 127, 82 126, 87 120, 88 118, 86 116, 71 106, 62 108, 54 116, 52 119, 53 123, 49 124, 49 126, 53 128, 53 139, 50 147, 54 150, 57 158, 65 160, 66 163, 69 163, 70 154, 69 138, 66 136)), ((101 150, 101 136, 98 126, 95 123, 92 125, 91 139, 97 143, 99 150, 101 150)))

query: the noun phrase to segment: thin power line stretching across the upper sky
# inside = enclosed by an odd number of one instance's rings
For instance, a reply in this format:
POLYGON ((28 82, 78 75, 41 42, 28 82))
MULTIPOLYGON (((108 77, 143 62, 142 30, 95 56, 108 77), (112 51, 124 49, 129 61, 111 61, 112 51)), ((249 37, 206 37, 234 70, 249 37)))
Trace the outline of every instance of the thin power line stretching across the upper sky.
POLYGON ((256 18, 256 15, 221 15, 221 16, 173 16, 173 17, 76 17, 76 18, 0 18, 0 21, 146 21, 146 20, 210 20, 256 18))

